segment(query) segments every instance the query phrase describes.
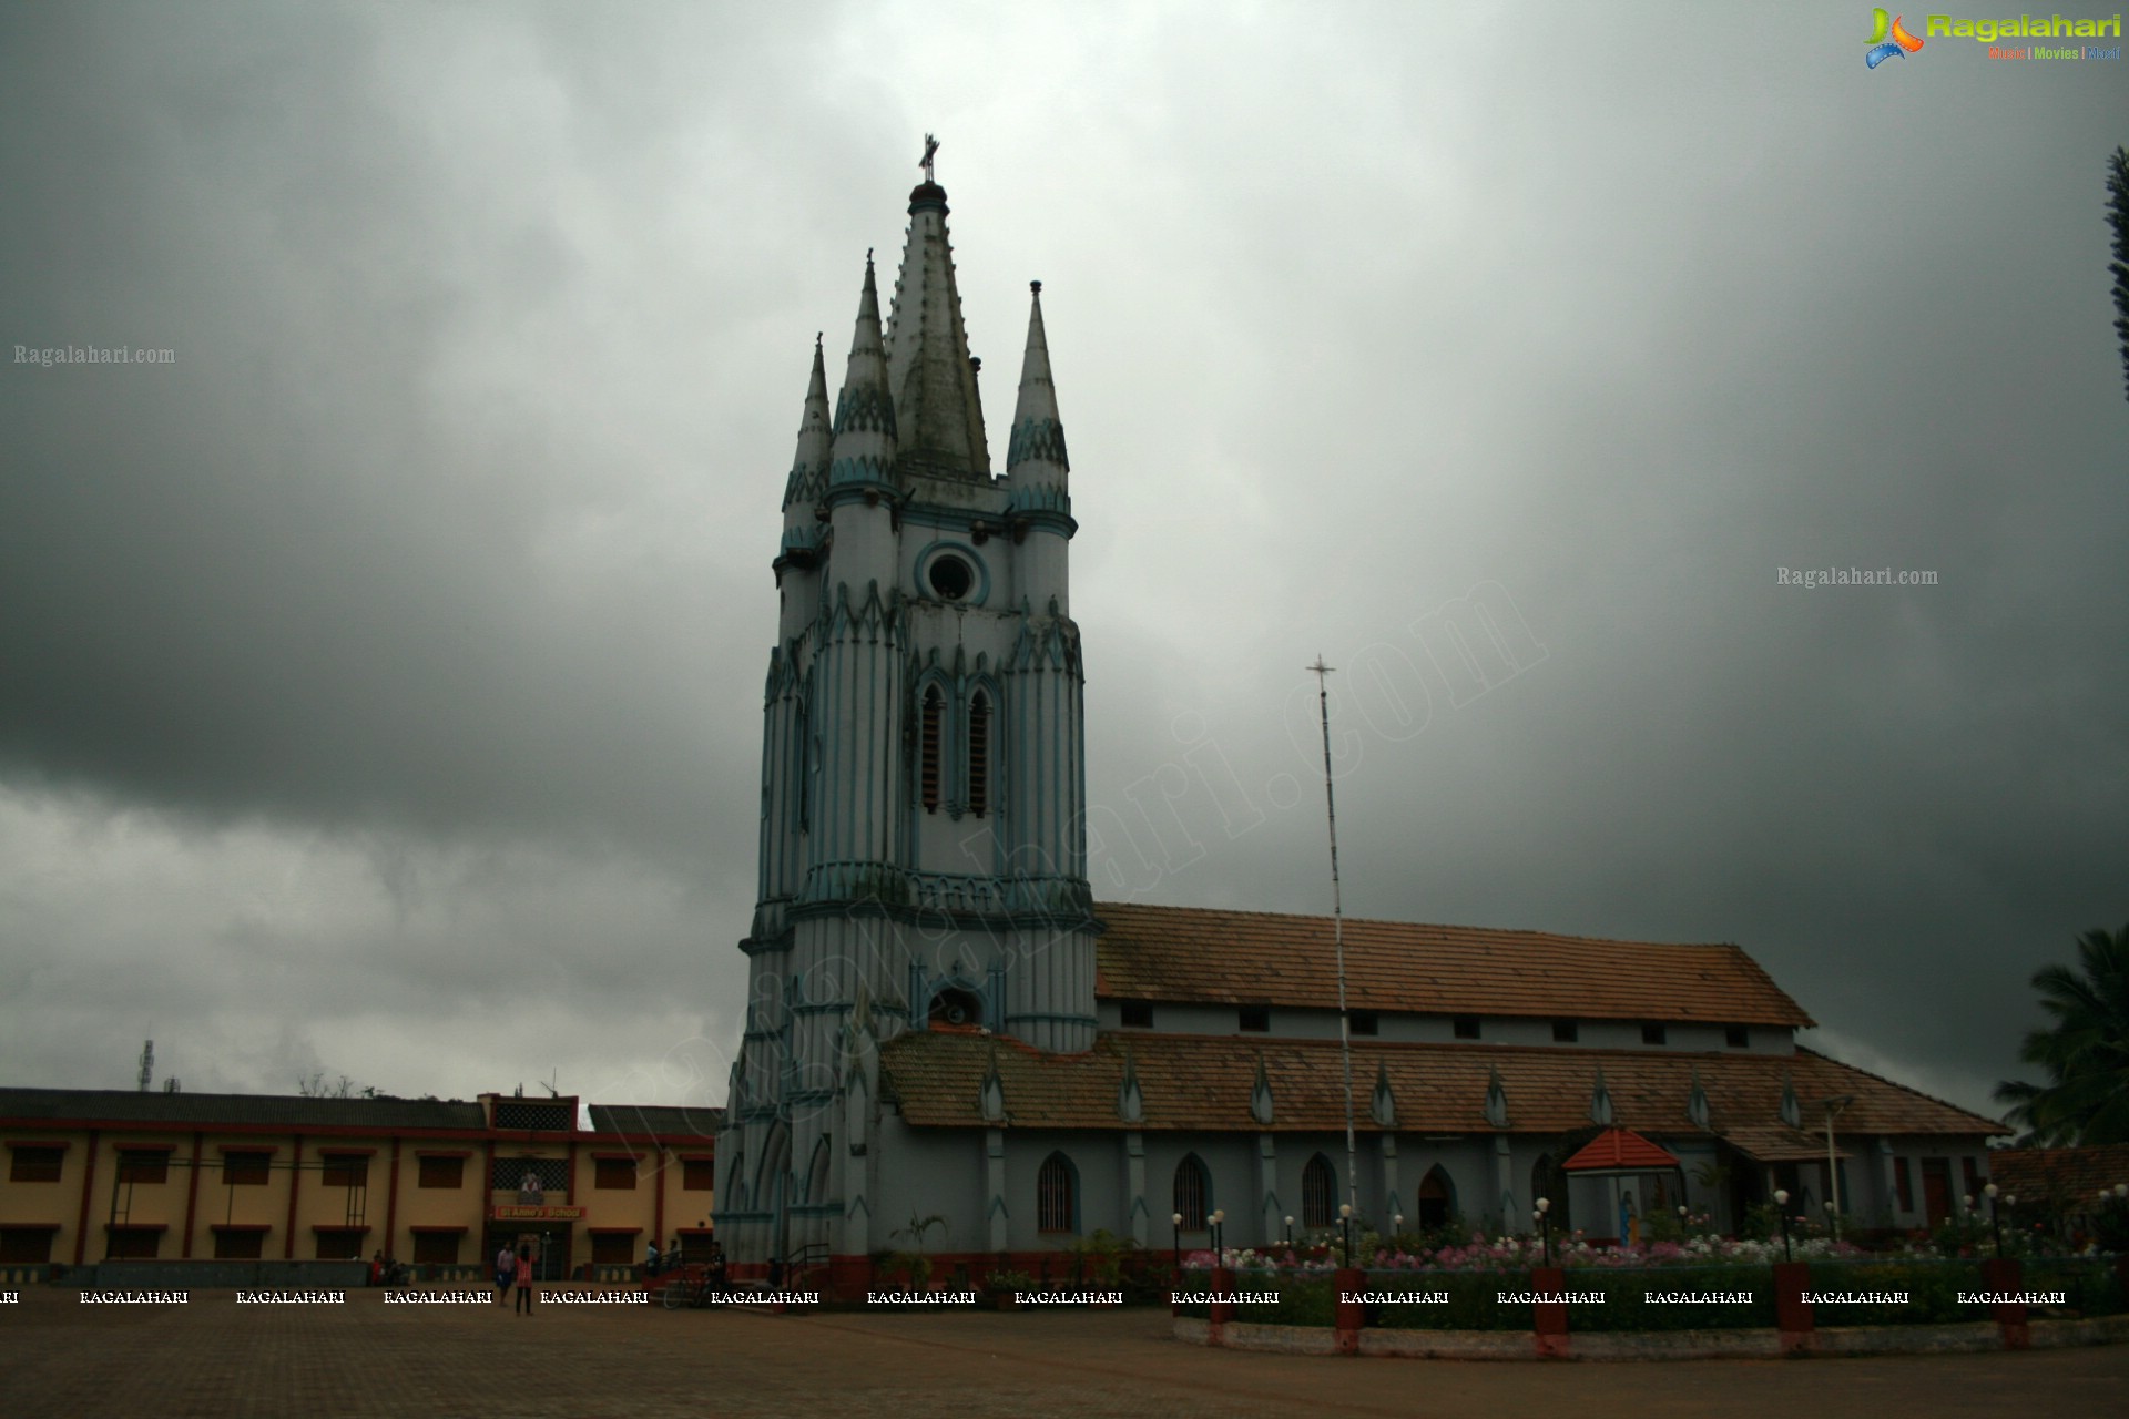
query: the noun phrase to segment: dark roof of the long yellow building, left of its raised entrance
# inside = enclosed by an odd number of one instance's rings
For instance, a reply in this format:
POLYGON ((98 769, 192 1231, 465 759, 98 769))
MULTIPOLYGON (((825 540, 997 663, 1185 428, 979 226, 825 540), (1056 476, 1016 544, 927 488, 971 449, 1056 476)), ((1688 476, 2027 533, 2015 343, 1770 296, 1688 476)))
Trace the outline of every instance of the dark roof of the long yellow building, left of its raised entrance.
POLYGON ((155 1094, 136 1089, 0 1089, 0 1119, 213 1128, 488 1128, 479 1104, 434 1098, 302 1098, 300 1094, 155 1094))

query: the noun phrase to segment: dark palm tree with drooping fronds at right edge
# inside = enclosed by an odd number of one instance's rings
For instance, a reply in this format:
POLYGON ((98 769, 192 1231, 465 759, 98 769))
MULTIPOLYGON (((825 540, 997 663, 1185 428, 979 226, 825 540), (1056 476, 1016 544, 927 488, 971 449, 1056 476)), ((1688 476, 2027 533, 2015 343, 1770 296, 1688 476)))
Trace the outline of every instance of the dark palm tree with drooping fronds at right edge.
POLYGON ((1999 1083, 2006 1119, 2025 1145, 2129 1142, 2129 925, 2086 932, 2078 968, 2042 966, 2033 989, 2054 1023, 2027 1034, 2018 1057, 2048 1083, 1999 1083))

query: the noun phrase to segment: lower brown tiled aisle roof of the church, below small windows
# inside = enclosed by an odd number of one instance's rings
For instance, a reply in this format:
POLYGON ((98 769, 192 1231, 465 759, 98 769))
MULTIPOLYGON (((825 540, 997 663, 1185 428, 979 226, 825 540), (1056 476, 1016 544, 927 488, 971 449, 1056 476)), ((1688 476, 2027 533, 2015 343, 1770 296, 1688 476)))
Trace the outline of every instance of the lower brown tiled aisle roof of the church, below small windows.
MULTIPOLYGON (((1343 1074, 1337 1040, 1190 1034, 1103 1034, 1084 1055, 1043 1055, 1016 1040, 915 1030, 881 1049, 884 1094, 903 1119, 930 1128, 981 1128, 979 1087, 992 1055, 1016 1128, 1120 1128, 1116 1096, 1130 1051, 1148 1130, 1258 1132, 1250 1091, 1258 1059, 1273 1096, 1273 1130, 1341 1130, 1343 1074)), ((1697 1132, 1686 1108, 1699 1074, 1710 1130, 1765 1140, 1780 1130, 1782 1085, 1805 1100, 1852 1094, 1842 1134, 2001 1134, 2001 1123, 1810 1051, 1788 1055, 1684 1053, 1512 1045, 1356 1042, 1354 1123, 1369 1115, 1371 1081, 1386 1070, 1399 1132, 1484 1134, 1486 1085, 1501 1072, 1507 1132, 1565 1134, 1588 1128, 1590 1089, 1603 1070, 1612 1119, 1646 1134, 1697 1132)), ((1786 1136, 1795 1130, 1782 1130, 1786 1136)), ((1805 1134, 1795 1134, 1803 1138, 1805 1134)))

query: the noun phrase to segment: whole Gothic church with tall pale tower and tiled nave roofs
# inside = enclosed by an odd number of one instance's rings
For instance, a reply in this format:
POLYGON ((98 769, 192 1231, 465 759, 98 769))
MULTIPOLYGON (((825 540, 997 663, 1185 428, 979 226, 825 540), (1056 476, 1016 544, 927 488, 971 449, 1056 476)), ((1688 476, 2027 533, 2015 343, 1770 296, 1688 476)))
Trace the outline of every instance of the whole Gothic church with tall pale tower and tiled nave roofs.
POLYGON ((715 1228, 747 1268, 971 1262, 1107 1230, 1228 1247, 1452 1217, 1733 1230, 1778 1187, 1852 1230, 1942 1219, 1997 1121, 1803 1049, 1731 945, 1096 904, 1071 464, 1030 285, 992 470, 947 196, 871 255, 783 485, 760 896, 715 1228), (1348 1098, 1352 1100, 1348 1106, 1348 1098), (1348 1117, 1354 1147, 1348 1147, 1348 1117), (1837 1198, 1833 1196, 1837 1191, 1837 1198))

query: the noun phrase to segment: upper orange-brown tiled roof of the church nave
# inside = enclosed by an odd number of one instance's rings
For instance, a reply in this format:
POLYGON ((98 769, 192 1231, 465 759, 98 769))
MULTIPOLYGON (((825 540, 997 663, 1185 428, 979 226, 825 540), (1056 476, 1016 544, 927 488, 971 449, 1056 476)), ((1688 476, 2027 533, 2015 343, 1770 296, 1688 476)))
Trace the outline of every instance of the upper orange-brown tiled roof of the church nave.
MULTIPOLYGON (((1331 917, 1103 904, 1099 991, 1126 1000, 1337 1008, 1331 917)), ((1737 947, 1346 921, 1354 1006, 1429 1015, 1810 1025, 1737 947)))

